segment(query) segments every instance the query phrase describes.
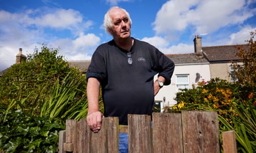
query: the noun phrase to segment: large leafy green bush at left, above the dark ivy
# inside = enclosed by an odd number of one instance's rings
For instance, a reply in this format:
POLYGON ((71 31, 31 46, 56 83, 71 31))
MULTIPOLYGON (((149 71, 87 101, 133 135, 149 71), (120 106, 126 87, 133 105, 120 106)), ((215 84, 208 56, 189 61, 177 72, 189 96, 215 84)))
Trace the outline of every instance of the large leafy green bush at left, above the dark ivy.
MULTIPOLYGON (((0 99, 22 99, 30 94, 26 105, 33 106, 37 95, 48 95, 56 79, 64 77, 71 69, 57 54, 58 49, 44 45, 41 52, 36 49, 34 54, 28 55, 27 61, 12 65, 0 78, 0 99)), ((1 100, 1 103, 6 104, 6 101, 1 100)))

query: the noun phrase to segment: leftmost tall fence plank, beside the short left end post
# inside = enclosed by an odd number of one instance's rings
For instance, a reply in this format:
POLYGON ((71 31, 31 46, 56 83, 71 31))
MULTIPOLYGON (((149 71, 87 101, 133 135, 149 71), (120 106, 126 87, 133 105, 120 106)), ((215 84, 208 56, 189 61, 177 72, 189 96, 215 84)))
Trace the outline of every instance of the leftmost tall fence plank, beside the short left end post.
POLYGON ((76 152, 76 123, 76 120, 66 120, 66 143, 73 144, 73 152, 76 152))

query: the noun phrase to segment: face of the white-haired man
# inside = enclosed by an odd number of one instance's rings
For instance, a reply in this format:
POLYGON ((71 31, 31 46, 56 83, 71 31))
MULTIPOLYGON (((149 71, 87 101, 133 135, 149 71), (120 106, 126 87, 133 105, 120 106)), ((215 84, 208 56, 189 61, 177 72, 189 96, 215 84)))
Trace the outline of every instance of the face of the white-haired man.
POLYGON ((123 10, 115 9, 111 11, 113 27, 109 30, 114 39, 130 37, 131 21, 123 10))

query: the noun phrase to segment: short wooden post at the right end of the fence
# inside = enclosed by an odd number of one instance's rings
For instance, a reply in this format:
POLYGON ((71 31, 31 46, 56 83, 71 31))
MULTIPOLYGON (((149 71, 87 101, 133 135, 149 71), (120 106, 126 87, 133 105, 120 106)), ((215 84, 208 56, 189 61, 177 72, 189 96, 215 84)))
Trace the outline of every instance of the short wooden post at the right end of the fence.
POLYGON ((222 132, 222 144, 224 153, 237 153, 235 131, 222 132))

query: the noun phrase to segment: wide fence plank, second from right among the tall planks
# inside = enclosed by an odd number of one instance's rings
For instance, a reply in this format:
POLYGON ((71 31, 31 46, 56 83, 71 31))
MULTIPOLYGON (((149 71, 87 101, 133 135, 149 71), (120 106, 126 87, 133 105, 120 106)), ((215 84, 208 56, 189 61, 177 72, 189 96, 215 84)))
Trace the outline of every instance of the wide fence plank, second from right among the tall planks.
POLYGON ((180 113, 153 113, 154 152, 183 152, 180 113))

